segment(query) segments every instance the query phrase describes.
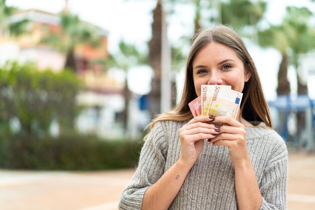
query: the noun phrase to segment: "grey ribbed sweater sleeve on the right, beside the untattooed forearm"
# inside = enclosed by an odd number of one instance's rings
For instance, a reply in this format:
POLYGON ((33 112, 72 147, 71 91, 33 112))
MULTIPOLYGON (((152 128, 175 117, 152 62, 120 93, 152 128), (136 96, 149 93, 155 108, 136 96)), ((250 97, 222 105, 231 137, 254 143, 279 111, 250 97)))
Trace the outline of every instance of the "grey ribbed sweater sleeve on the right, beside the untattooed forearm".
POLYGON ((265 166, 260 190, 263 202, 260 209, 287 209, 288 152, 280 136, 274 136, 270 159, 265 166))

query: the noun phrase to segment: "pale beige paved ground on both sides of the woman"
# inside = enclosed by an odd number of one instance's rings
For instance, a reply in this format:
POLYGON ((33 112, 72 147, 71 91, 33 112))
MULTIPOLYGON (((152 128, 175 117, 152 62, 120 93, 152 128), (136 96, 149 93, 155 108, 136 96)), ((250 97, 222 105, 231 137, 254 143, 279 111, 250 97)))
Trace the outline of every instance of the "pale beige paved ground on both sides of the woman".
MULTIPOLYGON (((112 210, 134 170, 0 170, 2 210, 112 210)), ((288 209, 315 209, 315 154, 289 154, 288 209)))

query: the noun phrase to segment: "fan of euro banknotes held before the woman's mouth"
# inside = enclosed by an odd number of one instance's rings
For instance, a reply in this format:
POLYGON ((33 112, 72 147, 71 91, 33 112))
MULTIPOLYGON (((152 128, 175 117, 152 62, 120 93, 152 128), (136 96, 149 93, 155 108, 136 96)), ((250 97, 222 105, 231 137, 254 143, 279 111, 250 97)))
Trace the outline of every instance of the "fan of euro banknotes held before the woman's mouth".
POLYGON ((236 118, 243 93, 230 85, 201 85, 201 95, 188 103, 194 117, 199 115, 229 116, 236 118))

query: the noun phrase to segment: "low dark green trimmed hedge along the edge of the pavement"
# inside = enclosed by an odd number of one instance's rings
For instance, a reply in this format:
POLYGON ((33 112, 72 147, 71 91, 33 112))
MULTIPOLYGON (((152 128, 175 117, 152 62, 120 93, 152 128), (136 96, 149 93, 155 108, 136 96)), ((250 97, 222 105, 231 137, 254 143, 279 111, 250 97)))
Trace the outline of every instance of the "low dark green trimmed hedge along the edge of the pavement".
POLYGON ((0 167, 36 170, 104 170, 135 167, 142 140, 94 136, 14 137, 0 140, 0 167))

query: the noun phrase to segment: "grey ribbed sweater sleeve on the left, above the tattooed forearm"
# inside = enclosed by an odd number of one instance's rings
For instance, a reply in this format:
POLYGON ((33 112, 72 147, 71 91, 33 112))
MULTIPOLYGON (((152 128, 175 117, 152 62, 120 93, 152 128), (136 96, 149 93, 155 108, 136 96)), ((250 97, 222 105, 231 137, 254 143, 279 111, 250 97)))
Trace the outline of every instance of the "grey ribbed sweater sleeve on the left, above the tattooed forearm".
POLYGON ((139 164, 131 182, 120 195, 119 209, 141 209, 145 191, 164 173, 167 147, 163 127, 158 122, 141 149, 139 164))

